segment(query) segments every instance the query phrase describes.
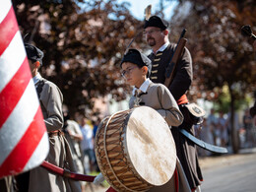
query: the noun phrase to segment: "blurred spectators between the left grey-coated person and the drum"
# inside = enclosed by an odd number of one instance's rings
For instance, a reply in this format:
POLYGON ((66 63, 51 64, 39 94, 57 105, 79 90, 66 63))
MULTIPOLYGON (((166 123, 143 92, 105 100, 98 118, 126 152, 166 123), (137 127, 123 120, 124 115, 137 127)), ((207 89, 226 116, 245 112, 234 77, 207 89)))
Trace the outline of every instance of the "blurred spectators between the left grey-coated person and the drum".
MULTIPOLYGON (((67 111, 64 114, 63 131, 70 145, 73 159, 77 166, 78 173, 96 174, 99 172, 95 155, 96 129, 100 122, 87 117, 81 117, 78 121, 70 118, 67 111)), ((83 189, 83 182, 81 182, 83 189)))

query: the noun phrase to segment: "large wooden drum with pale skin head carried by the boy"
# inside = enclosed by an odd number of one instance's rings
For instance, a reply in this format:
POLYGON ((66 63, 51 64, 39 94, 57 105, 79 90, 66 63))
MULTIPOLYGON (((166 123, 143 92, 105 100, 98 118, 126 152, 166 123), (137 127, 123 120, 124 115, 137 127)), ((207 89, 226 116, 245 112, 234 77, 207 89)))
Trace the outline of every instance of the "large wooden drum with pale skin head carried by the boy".
POLYGON ((163 185, 176 166, 169 127, 148 106, 103 119, 96 131, 95 152, 102 175, 116 191, 147 191, 163 185))

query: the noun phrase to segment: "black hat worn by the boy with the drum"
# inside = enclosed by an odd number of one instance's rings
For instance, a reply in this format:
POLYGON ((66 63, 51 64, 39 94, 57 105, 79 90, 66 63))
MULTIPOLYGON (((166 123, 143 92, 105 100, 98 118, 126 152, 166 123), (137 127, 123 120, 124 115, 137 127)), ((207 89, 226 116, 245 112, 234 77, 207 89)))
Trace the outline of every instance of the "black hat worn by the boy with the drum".
POLYGON ((127 53, 123 56, 120 67, 124 62, 130 62, 136 64, 138 67, 142 68, 143 66, 148 67, 148 76, 151 74, 151 60, 139 50, 130 48, 127 53))

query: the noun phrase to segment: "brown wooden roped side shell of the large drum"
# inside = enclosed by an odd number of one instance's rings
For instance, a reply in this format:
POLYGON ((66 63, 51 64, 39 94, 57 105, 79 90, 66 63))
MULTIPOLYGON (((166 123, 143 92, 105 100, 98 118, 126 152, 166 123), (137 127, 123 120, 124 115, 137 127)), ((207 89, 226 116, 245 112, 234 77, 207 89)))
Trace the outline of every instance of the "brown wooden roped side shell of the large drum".
POLYGON ((127 124, 133 110, 115 113, 108 124, 110 117, 106 117, 96 132, 95 151, 99 169, 116 191, 147 191, 155 186, 137 172, 127 151, 127 124))

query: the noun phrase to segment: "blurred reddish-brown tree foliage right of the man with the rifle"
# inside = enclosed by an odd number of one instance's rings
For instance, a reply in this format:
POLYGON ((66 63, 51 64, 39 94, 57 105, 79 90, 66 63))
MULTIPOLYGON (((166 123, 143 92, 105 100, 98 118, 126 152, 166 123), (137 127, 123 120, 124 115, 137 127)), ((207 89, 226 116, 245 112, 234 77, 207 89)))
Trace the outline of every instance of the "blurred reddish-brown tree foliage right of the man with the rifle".
POLYGON ((218 100, 226 85, 234 99, 241 99, 255 89, 252 39, 240 32, 243 25, 256 32, 255 13, 251 0, 182 1, 172 18, 171 33, 177 36, 177 29, 188 30, 187 46, 194 62, 192 96, 218 100))

